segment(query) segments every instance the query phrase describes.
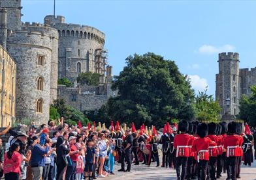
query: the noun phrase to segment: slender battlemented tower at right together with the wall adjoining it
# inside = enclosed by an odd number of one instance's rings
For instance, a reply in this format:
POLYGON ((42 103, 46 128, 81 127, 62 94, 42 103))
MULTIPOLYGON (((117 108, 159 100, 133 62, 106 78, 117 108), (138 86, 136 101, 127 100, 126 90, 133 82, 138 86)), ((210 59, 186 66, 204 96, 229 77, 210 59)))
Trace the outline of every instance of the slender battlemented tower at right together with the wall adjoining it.
POLYGON ((216 100, 222 109, 222 118, 234 118, 239 113, 240 98, 251 94, 250 86, 256 85, 256 68, 240 69, 238 53, 220 53, 218 62, 216 100))

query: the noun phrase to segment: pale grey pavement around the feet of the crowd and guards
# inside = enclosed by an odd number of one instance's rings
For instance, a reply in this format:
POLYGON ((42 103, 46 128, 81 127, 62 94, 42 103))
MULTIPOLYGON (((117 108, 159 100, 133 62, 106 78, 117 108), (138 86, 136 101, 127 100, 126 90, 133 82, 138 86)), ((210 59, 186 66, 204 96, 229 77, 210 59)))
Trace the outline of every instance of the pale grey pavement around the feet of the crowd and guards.
MULTIPOLYGON (((161 151, 159 151, 160 161, 161 161, 161 151)), ((161 164, 161 163, 160 163, 161 164)), ((103 179, 106 180, 135 180, 135 179, 144 179, 144 180, 174 180, 176 179, 176 171, 171 168, 161 168, 155 167, 156 164, 153 162, 150 167, 146 165, 135 166, 132 165, 131 172, 118 172, 120 169, 120 164, 116 162, 115 164, 115 175, 110 175, 103 179)), ((242 180, 256 180, 256 161, 251 164, 251 167, 241 166, 241 179, 242 180)), ((222 174, 222 178, 219 180, 225 180, 227 178, 227 174, 222 174)))

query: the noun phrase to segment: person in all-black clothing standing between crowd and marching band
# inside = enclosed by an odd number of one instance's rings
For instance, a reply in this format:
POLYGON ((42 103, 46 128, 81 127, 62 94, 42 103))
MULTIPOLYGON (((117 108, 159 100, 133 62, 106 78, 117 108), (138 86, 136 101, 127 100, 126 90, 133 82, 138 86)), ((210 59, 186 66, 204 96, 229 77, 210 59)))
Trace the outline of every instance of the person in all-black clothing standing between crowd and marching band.
POLYGON ((131 171, 131 147, 133 146, 133 136, 131 131, 127 129, 125 131, 125 140, 123 141, 123 147, 121 150, 121 169, 119 172, 130 172, 131 171), (125 170, 125 159, 127 161, 127 170, 125 170))

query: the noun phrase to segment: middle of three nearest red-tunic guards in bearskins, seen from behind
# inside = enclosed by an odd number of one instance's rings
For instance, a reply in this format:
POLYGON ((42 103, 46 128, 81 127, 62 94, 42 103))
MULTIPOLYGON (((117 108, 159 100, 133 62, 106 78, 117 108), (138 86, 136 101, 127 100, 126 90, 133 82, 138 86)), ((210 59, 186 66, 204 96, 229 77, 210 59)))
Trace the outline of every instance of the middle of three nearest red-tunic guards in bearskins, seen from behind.
POLYGON ((205 180, 208 161, 209 161, 209 146, 212 143, 208 135, 208 125, 206 123, 199 123, 197 127, 197 138, 192 146, 192 151, 195 152, 195 159, 197 160, 197 179, 205 180))

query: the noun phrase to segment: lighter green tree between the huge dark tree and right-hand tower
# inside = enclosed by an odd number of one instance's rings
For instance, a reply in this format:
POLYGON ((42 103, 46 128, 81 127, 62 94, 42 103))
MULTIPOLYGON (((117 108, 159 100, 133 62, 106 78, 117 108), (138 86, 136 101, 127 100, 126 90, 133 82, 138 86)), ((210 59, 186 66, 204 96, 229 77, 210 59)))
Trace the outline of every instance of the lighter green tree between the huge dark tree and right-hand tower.
POLYGON ((206 92, 207 90, 199 92, 199 95, 195 97, 193 106, 195 107, 196 118, 199 121, 219 122, 221 107, 214 100, 214 97, 206 94, 206 92))

